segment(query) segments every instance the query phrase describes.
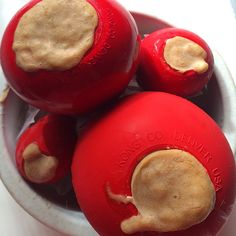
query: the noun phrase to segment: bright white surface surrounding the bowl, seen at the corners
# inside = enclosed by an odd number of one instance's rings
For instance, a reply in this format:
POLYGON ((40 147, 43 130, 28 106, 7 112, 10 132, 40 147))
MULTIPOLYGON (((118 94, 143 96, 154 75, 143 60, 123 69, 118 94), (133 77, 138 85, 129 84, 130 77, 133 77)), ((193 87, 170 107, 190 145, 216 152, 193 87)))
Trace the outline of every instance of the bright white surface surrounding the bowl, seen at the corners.
MULTIPOLYGON (((11 16, 25 0, 0 0, 0 38, 11 16)), ((236 19, 230 0, 119 0, 128 9, 145 12, 175 26, 189 29, 216 48, 236 82, 236 19)), ((0 88, 4 82, 0 79, 0 88)), ((234 236, 236 208, 220 236, 234 236)), ((62 236, 25 213, 0 182, 1 236, 62 236)))

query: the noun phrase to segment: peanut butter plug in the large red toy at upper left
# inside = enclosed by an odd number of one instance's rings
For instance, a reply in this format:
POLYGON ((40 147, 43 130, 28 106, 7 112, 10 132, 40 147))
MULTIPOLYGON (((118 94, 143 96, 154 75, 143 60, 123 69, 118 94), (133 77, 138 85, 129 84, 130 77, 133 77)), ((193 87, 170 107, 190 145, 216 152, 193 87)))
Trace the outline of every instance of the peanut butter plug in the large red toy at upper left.
POLYGON ((29 72, 70 69, 92 47, 97 25, 97 12, 86 0, 42 0, 18 23, 16 63, 29 72))

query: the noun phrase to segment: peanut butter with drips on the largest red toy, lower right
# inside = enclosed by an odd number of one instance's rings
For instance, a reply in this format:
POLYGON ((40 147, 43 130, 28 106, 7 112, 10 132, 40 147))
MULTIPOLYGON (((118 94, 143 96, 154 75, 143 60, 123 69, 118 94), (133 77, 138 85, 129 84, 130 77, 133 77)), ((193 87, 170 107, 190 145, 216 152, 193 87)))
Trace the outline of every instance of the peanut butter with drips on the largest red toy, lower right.
POLYGON ((121 222, 126 234, 143 231, 170 232, 204 221, 215 205, 215 189, 206 169, 190 153, 170 149, 156 151, 136 166, 131 181, 132 203, 138 215, 121 222))

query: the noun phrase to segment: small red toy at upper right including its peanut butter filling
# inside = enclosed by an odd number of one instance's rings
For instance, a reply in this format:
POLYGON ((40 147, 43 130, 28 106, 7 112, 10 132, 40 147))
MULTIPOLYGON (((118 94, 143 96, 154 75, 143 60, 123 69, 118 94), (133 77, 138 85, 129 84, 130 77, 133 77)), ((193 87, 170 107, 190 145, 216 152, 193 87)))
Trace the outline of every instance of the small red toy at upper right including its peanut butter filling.
POLYGON ((166 28, 143 39, 138 80, 146 90, 189 97, 207 85, 213 66, 211 49, 202 38, 166 28))

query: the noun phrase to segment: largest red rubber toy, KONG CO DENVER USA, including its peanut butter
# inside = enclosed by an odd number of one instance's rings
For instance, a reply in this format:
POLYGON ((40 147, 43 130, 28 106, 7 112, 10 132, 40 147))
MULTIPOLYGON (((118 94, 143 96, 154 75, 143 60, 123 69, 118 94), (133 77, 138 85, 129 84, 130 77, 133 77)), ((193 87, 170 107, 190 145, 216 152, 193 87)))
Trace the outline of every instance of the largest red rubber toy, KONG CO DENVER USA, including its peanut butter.
POLYGON ((235 173, 216 123, 158 92, 125 98, 95 122, 72 164, 81 209, 103 236, 216 235, 234 202, 235 173))

